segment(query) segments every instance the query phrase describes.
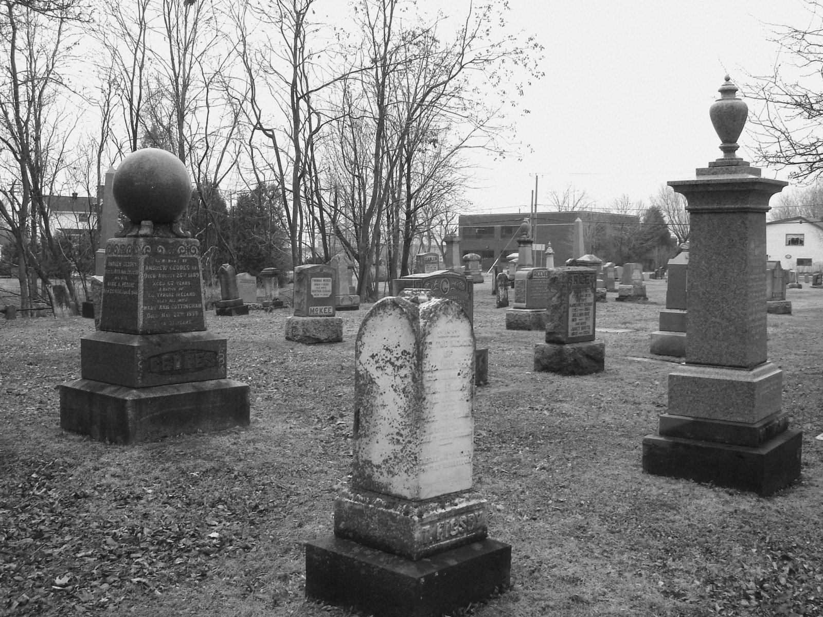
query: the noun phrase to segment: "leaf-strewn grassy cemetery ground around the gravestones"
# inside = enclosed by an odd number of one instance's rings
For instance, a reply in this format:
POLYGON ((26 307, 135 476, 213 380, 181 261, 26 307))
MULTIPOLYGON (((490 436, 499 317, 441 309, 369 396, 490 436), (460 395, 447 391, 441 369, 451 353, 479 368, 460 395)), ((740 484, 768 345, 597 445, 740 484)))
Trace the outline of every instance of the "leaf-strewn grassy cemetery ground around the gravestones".
MULTIPOLYGON (((512 587, 467 614, 823 615, 823 290, 769 315, 802 478, 755 494, 648 476, 641 441, 667 407, 672 361, 649 354, 648 304, 597 304, 606 370, 532 372, 542 332, 504 329, 477 285, 475 488, 512 545, 512 587)), ((116 446, 59 427, 56 386, 80 373, 89 319, 0 320, 0 615, 351 615, 305 601, 306 540, 332 533, 351 462, 359 312, 344 342, 285 341, 288 309, 217 318, 251 425, 116 446)))

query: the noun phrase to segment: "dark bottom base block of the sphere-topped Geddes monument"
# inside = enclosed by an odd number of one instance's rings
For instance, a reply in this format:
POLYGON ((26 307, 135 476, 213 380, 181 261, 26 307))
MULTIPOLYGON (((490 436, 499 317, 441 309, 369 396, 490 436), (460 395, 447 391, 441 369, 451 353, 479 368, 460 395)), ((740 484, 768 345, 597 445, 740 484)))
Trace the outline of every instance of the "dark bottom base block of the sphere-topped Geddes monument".
POLYGON ((249 425, 249 386, 233 379, 123 387, 91 379, 60 385, 60 426, 95 441, 142 443, 249 425))

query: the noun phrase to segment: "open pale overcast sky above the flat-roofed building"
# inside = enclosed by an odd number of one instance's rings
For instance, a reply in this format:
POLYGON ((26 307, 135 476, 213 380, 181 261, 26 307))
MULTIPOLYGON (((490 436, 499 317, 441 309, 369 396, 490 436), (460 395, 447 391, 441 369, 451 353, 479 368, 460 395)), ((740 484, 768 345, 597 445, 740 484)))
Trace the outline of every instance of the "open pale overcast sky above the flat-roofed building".
MULTIPOLYGON (((528 211, 535 174, 541 209, 549 192, 570 184, 605 209, 621 194, 648 202, 662 183, 693 178, 722 155, 709 105, 725 74, 739 86, 746 73, 770 72, 774 27, 810 21, 802 0, 509 3, 512 26, 545 46, 546 77, 526 93, 532 113, 518 120, 516 138, 533 153, 478 158, 479 186, 468 193, 474 212, 528 211)), ((467 0, 438 4, 457 12, 467 0)), ((753 141, 744 132, 738 155, 751 160, 753 141)))

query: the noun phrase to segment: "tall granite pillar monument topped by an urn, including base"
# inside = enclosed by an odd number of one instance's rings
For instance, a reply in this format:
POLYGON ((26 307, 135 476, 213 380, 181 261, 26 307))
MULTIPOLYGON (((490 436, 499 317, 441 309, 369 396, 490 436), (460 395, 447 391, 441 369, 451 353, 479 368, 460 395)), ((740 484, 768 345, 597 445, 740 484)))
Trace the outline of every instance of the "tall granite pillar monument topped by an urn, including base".
POLYGON ((802 448, 766 346, 766 212, 787 183, 735 156, 746 104, 728 76, 719 91, 709 115, 723 157, 669 183, 690 214, 686 363, 669 374, 668 413, 643 440, 643 468, 768 495, 800 476, 802 448))

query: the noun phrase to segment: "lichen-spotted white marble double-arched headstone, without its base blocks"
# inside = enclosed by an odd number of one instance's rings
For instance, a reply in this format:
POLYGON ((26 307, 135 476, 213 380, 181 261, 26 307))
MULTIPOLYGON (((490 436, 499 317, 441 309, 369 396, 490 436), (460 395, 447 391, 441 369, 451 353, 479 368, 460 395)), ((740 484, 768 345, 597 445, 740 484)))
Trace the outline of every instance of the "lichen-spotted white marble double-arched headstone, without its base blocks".
POLYGON ((431 499, 472 487, 472 324, 458 304, 374 304, 355 347, 352 488, 431 499))

